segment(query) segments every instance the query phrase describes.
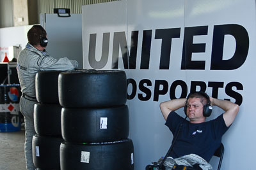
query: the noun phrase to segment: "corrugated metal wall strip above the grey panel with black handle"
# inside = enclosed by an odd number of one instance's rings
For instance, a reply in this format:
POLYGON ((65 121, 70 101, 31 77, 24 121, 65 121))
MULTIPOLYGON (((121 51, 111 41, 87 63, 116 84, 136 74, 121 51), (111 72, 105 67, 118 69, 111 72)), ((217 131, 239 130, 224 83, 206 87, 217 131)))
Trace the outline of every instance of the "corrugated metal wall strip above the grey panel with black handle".
POLYGON ((54 8, 70 8, 70 13, 82 13, 82 6, 120 0, 38 0, 39 13, 53 13, 54 8))

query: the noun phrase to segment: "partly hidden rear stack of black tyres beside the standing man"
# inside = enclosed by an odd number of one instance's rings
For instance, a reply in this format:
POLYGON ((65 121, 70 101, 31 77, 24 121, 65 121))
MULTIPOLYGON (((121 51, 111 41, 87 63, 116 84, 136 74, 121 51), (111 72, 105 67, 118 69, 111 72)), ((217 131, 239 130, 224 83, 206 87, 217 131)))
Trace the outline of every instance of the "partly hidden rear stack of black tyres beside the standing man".
POLYGON ((36 74, 34 124, 32 140, 33 162, 37 169, 60 169, 61 109, 58 100, 58 76, 61 71, 41 71, 36 74))

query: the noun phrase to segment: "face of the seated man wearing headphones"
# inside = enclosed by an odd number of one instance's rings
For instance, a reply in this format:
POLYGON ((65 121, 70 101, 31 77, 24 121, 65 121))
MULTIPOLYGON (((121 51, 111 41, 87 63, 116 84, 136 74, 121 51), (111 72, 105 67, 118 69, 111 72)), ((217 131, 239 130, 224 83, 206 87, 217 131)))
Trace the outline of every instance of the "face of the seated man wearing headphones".
POLYGON ((191 123, 202 123, 205 122, 203 115, 204 105, 201 103, 200 98, 189 98, 187 103, 187 116, 191 123))

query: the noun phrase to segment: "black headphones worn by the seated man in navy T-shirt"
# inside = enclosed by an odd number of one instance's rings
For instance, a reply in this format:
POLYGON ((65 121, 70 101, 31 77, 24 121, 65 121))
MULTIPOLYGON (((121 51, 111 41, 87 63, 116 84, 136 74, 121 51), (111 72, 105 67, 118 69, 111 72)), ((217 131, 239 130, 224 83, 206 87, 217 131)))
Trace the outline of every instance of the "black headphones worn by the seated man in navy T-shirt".
POLYGON ((211 101, 210 101, 210 97, 205 93, 205 92, 193 92, 193 93, 189 93, 187 100, 186 100, 186 104, 184 106, 184 112, 185 115, 187 116, 187 103, 188 103, 188 99, 192 94, 199 94, 200 96, 204 96, 207 99, 207 103, 204 105, 204 109, 203 109, 203 115, 204 117, 210 117, 211 113, 212 113, 212 106, 211 106, 211 101))

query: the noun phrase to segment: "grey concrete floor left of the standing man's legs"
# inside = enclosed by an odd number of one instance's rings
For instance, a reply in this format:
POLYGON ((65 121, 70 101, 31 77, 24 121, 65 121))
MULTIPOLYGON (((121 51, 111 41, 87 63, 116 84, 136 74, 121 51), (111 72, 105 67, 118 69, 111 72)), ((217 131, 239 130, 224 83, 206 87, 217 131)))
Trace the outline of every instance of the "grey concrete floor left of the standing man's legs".
POLYGON ((25 131, 0 132, 0 170, 26 170, 25 131))

